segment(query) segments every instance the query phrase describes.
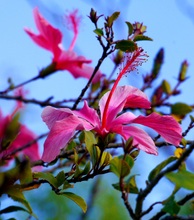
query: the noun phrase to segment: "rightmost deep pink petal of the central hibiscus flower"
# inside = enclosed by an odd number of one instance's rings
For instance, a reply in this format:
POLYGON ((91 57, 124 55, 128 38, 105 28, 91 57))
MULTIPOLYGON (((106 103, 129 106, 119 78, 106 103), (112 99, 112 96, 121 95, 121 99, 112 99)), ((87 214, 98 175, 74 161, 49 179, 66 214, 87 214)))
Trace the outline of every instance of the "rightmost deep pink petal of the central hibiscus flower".
POLYGON ((177 121, 172 116, 161 116, 152 113, 149 116, 139 116, 133 123, 148 126, 157 131, 168 143, 178 146, 182 139, 182 130, 177 121))

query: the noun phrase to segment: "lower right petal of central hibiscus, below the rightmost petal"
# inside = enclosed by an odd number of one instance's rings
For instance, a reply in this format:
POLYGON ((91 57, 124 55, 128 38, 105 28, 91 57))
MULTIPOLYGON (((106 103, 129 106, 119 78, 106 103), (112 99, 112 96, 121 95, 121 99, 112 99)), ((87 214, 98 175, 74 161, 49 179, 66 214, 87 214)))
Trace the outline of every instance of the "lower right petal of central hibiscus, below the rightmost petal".
POLYGON ((158 155, 157 148, 152 138, 142 129, 135 126, 123 126, 121 135, 127 140, 133 137, 133 145, 148 154, 158 155))

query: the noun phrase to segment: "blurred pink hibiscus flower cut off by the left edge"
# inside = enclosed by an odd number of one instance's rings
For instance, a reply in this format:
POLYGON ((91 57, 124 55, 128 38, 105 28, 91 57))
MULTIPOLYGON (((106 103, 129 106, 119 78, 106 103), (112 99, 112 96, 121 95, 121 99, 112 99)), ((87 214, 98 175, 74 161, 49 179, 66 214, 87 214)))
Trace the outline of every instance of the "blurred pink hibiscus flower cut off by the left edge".
MULTIPOLYGON (((23 91, 19 89, 18 91, 16 91, 16 94, 23 95, 23 91)), ((36 161, 40 159, 39 147, 37 142, 34 142, 23 150, 19 150, 23 146, 34 141, 36 139, 35 134, 30 131, 25 125, 22 125, 20 123, 18 124, 18 130, 16 129, 16 126, 10 128, 10 125, 14 120, 15 115, 22 107, 22 103, 18 101, 13 113, 7 116, 3 116, 0 110, 0 159, 4 162, 9 162, 11 159, 14 158, 15 155, 27 156, 31 161, 36 161), (9 131, 10 129, 11 131, 9 131), (14 129, 16 129, 16 131, 14 129), (8 140, 10 138, 10 135, 8 134, 9 132, 15 133, 15 137, 13 136, 10 140, 8 140)))

